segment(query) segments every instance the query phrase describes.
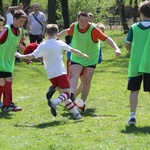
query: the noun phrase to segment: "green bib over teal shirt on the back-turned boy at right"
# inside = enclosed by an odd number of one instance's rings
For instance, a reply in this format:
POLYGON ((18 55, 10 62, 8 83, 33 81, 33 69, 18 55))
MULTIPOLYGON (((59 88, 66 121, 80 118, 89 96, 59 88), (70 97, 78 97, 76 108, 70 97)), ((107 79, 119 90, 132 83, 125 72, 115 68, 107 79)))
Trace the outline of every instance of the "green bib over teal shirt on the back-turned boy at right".
POLYGON ((126 38, 131 43, 128 76, 136 77, 150 73, 150 21, 133 24, 126 38), (142 41, 142 42, 141 42, 142 41))

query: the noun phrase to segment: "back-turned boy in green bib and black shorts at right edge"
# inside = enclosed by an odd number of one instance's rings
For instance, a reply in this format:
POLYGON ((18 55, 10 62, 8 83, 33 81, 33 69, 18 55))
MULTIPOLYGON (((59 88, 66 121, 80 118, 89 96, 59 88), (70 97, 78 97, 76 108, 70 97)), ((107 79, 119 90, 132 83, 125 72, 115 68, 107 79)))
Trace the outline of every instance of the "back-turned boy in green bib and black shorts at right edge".
POLYGON ((140 5, 141 22, 133 24, 126 38, 125 47, 130 52, 128 90, 130 117, 128 124, 136 124, 138 94, 143 81, 145 92, 150 92, 150 1, 140 5))

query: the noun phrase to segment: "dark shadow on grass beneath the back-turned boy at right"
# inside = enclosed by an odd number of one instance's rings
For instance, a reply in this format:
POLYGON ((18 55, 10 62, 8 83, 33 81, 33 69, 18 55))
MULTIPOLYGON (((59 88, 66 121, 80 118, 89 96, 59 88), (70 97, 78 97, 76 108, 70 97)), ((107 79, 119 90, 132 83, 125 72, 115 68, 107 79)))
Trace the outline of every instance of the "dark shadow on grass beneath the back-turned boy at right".
POLYGON ((137 127, 137 126, 126 126, 125 130, 122 130, 121 133, 125 133, 125 134, 150 134, 150 127, 146 126, 146 127, 137 127))

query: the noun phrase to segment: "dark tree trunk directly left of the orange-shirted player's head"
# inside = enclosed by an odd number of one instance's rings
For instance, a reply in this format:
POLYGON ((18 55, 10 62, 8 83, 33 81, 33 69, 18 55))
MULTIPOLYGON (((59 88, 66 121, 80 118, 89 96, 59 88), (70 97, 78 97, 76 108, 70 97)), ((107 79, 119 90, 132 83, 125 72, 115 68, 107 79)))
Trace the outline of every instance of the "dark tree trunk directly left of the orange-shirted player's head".
MULTIPOLYGON (((64 29, 69 28, 69 11, 68 11, 68 0, 61 0, 61 7, 62 7, 62 16, 64 20, 64 29)), ((66 36, 66 43, 71 43, 71 37, 66 36)))

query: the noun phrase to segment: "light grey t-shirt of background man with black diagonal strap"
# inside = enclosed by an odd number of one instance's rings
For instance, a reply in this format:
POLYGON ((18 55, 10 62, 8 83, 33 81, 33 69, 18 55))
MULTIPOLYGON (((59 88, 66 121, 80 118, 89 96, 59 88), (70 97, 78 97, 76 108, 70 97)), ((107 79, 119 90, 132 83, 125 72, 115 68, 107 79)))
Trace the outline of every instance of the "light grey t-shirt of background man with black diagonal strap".
POLYGON ((38 14, 35 14, 34 12, 30 13, 28 16, 28 22, 30 23, 30 30, 31 34, 33 35, 42 35, 42 26, 40 23, 34 18, 33 14, 35 17, 41 22, 41 23, 46 23, 46 17, 43 12, 40 12, 38 14))

